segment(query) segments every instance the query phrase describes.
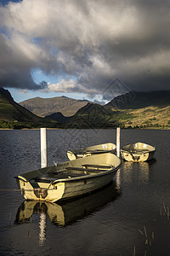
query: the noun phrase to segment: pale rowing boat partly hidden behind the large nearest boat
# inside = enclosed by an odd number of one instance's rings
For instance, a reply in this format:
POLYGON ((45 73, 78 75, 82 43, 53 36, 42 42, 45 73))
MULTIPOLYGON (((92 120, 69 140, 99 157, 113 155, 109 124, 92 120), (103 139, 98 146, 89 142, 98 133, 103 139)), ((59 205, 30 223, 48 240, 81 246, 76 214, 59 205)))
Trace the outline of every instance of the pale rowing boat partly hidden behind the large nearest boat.
POLYGON ((116 145, 113 143, 99 144, 88 148, 80 148, 76 150, 67 151, 69 160, 75 160, 77 158, 89 156, 92 154, 103 154, 103 153, 115 153, 116 145))

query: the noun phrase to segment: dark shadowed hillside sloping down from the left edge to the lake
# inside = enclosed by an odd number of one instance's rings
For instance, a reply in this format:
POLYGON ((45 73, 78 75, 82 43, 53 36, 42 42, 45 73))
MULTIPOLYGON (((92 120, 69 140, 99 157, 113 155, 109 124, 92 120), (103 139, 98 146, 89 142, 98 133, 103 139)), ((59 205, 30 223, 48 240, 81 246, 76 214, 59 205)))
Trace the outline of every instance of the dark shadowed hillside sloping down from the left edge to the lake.
POLYGON ((14 102, 13 97, 10 95, 8 90, 0 87, 0 127, 3 126, 7 128, 8 122, 10 122, 11 127, 9 128, 20 128, 27 127, 31 128, 34 126, 48 126, 54 125, 56 122, 52 120, 43 119, 38 117, 34 113, 31 113, 26 108, 20 106, 17 102, 14 102), (12 124, 13 123, 13 124, 12 124), (21 124, 22 123, 22 124, 21 124), (6 126, 5 126, 6 125, 6 126))

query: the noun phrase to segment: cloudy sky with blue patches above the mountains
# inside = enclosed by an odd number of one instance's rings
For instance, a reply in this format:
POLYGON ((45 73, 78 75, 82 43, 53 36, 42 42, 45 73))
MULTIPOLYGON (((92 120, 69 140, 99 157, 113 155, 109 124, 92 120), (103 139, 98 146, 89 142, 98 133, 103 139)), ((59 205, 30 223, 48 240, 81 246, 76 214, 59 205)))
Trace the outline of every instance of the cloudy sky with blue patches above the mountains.
POLYGON ((169 0, 0 0, 0 86, 17 102, 169 85, 169 0))

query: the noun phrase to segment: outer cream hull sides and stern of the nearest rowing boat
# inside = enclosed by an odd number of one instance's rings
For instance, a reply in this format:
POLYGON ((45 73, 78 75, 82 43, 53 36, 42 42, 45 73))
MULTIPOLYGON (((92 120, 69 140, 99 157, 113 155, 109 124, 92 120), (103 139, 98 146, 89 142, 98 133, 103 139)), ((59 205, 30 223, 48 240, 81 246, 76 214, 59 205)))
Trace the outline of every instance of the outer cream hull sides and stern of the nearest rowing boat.
POLYGON ((24 183, 21 180, 18 180, 18 184, 26 200, 55 202, 86 195, 100 189, 110 183, 115 175, 116 170, 100 177, 86 177, 72 182, 63 181, 50 186, 48 183, 38 183, 39 189, 32 189, 31 183, 24 183))

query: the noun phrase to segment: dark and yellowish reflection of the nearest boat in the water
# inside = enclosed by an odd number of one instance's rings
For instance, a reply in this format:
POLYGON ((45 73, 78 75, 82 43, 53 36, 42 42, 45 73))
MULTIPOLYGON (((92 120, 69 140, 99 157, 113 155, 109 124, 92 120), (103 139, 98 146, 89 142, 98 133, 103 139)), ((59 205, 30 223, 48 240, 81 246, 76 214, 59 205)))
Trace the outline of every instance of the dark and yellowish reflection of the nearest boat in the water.
MULTIPOLYGON (((100 211, 111 201, 121 195, 116 183, 112 182, 104 189, 75 201, 65 201, 62 205, 47 201, 24 201, 16 214, 15 224, 25 224, 31 221, 33 214, 40 214, 40 229, 46 216, 51 223, 58 226, 74 224, 81 218, 86 218, 94 212, 100 211)), ((43 229, 42 229, 43 230, 43 229)), ((43 233, 43 232, 42 232, 43 233)))

